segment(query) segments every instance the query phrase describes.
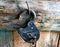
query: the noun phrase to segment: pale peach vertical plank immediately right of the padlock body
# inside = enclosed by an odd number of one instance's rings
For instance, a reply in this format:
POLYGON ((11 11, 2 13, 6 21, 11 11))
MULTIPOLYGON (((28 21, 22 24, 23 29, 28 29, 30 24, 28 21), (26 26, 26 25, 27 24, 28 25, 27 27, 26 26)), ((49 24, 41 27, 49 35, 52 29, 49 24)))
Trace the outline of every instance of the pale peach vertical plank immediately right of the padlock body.
POLYGON ((50 32, 40 32, 40 38, 37 41, 37 47, 49 47, 50 32))

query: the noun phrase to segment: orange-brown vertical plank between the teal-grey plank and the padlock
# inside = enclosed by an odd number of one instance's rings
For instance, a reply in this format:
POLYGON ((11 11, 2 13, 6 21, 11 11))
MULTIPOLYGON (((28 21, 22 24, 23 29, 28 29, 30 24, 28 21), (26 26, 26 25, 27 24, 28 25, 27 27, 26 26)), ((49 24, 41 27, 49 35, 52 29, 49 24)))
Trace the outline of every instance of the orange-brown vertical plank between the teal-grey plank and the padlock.
POLYGON ((25 42, 17 31, 14 31, 14 47, 30 47, 30 44, 25 42))

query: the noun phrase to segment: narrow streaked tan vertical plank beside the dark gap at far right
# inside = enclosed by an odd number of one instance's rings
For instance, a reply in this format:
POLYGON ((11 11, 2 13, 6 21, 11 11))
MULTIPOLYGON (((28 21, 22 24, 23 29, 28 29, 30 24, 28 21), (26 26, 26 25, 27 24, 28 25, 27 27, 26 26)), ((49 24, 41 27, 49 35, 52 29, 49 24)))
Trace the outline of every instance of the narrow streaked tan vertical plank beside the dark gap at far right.
POLYGON ((51 47, 57 47, 58 41, 59 41, 59 33, 58 32, 51 32, 51 35, 50 35, 51 47))

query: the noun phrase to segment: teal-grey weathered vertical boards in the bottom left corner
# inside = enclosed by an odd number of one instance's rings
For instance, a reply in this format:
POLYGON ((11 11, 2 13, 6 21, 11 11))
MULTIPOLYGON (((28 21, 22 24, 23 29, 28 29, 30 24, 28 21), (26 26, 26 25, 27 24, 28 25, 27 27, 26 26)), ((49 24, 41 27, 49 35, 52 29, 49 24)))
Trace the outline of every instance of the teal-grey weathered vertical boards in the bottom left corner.
POLYGON ((0 47, 13 47, 13 32, 0 30, 0 47))

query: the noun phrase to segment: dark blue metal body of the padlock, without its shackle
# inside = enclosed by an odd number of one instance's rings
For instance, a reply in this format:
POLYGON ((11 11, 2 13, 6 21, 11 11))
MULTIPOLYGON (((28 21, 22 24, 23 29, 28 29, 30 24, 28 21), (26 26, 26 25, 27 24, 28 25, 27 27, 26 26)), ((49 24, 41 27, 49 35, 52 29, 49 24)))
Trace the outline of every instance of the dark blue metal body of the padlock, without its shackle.
POLYGON ((23 38, 23 40, 28 43, 32 43, 34 40, 37 41, 40 36, 39 30, 32 21, 28 23, 28 26, 26 28, 20 28, 18 33, 23 38))

